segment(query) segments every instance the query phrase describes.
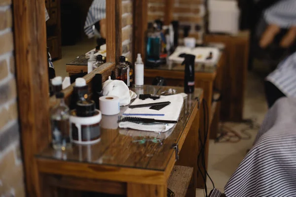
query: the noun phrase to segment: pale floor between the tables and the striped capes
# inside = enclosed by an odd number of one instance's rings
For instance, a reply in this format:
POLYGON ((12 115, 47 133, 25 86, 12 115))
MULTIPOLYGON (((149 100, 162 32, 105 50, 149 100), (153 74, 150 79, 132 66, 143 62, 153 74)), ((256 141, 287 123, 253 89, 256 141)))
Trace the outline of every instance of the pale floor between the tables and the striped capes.
MULTIPOLYGON (((248 74, 247 87, 245 93, 244 118, 256 119, 257 123, 263 121, 267 111, 264 98, 262 78, 255 73, 248 74)), ((245 128, 245 124, 227 123, 228 127, 235 131, 245 128)), ((228 179, 235 171, 237 166, 245 157, 248 149, 252 147, 254 138, 258 130, 251 130, 250 140, 241 140, 238 143, 214 143, 210 141, 208 173, 214 181, 215 187, 223 192, 228 179)), ((207 179, 208 193, 213 189, 212 183, 207 179)), ((196 197, 205 197, 202 189, 196 190, 196 197)))

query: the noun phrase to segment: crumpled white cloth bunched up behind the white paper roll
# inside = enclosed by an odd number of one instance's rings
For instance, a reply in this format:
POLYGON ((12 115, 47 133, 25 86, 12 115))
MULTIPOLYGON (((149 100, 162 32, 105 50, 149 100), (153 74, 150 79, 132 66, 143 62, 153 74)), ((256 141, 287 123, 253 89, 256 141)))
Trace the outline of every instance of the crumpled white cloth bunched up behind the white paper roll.
POLYGON ((131 102, 131 99, 137 97, 136 93, 130 91, 123 81, 111 80, 110 77, 103 84, 103 95, 119 97, 120 106, 125 106, 129 104, 131 102))

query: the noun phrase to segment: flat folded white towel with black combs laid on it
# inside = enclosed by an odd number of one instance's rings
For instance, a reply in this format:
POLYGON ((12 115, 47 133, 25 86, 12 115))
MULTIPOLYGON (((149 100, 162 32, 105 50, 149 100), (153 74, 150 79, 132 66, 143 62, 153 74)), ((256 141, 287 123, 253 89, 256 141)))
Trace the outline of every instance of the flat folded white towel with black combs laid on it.
MULTIPOLYGON (((174 120, 179 119, 179 115, 183 106, 183 95, 171 95, 171 96, 161 96, 160 99, 135 99, 131 105, 137 104, 147 104, 154 102, 165 102, 170 101, 171 103, 160 110, 149 109, 150 107, 141 108, 128 108, 125 114, 164 114, 164 116, 135 116, 139 118, 153 118, 157 120, 174 120)), ((175 124, 136 124, 131 122, 120 122, 119 128, 129 128, 142 131, 154 131, 154 132, 165 132, 173 128, 175 124)))

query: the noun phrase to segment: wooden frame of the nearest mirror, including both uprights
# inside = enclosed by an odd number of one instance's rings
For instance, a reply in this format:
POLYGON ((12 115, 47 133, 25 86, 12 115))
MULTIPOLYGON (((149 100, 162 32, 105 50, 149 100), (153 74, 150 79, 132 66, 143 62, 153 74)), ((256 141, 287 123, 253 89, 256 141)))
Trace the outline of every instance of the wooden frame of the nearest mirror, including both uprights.
MULTIPOLYGON (((44 0, 12 0, 19 120, 26 193, 39 197, 35 155, 51 141, 48 97, 48 63, 44 0)), ((89 83, 96 73, 106 80, 122 52, 121 0, 106 0, 107 63, 84 76, 89 83), (115 23, 114 23, 115 21, 115 23)), ((68 98, 73 85, 63 91, 68 98)))

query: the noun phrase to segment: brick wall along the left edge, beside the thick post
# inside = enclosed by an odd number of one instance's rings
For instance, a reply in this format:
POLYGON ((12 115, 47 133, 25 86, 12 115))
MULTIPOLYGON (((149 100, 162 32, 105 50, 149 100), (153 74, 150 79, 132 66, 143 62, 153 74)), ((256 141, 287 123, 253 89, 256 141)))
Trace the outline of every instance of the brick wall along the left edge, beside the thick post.
POLYGON ((0 197, 24 197, 11 0, 0 0, 0 197))

